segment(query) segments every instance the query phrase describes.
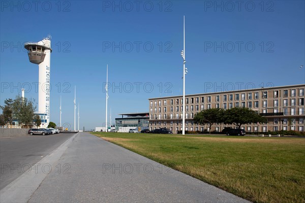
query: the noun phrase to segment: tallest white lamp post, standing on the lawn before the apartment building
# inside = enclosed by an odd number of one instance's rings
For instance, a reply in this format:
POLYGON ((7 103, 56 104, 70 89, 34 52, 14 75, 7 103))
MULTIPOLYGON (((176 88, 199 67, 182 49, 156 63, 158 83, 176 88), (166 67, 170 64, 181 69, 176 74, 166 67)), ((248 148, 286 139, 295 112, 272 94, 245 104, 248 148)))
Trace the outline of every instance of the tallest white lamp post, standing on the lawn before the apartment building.
POLYGON ((186 68, 186 42, 185 42, 185 16, 183 16, 183 50, 181 51, 181 57, 183 58, 183 97, 182 97, 182 134, 185 134, 186 128, 186 74, 188 69, 186 68))

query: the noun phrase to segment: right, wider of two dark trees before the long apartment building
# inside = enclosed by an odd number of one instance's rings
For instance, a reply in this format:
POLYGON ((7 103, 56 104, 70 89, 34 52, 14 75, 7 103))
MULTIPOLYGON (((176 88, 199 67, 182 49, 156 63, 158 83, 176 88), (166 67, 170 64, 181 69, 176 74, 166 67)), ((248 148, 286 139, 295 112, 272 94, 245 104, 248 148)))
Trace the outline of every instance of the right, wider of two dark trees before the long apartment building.
POLYGON ((267 119, 249 108, 235 107, 225 111, 225 124, 240 126, 247 123, 265 123, 267 119))

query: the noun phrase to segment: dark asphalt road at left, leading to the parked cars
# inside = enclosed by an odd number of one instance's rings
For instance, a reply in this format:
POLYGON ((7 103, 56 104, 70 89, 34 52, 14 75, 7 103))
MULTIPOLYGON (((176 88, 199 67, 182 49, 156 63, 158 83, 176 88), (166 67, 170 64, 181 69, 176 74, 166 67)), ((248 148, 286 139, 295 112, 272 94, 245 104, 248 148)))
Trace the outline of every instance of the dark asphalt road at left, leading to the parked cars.
POLYGON ((26 136, 0 139, 0 190, 17 179, 58 146, 71 138, 71 133, 49 136, 26 136))

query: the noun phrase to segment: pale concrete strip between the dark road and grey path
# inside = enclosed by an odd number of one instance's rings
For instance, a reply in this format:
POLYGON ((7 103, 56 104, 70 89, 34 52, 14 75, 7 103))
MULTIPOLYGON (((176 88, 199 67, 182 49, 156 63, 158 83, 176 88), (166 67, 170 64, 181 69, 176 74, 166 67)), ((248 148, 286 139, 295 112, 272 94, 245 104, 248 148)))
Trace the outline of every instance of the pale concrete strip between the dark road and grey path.
POLYGON ((74 134, 74 136, 57 147, 53 152, 33 165, 31 168, 33 173, 22 174, 16 180, 0 190, 0 202, 27 202, 48 175, 48 173, 43 173, 43 170, 37 170, 38 166, 47 163, 52 167, 55 167, 56 161, 67 150, 68 146, 77 134, 78 133, 74 134))

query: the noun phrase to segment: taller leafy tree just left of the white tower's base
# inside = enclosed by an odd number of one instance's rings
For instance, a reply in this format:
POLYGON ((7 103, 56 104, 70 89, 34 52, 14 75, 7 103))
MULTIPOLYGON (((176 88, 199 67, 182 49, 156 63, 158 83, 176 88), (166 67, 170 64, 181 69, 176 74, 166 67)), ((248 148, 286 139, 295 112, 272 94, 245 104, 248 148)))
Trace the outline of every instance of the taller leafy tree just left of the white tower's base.
POLYGON ((27 98, 22 98, 20 95, 17 95, 13 104, 13 116, 14 118, 24 125, 32 124, 34 119, 34 107, 33 101, 28 100, 27 98))

